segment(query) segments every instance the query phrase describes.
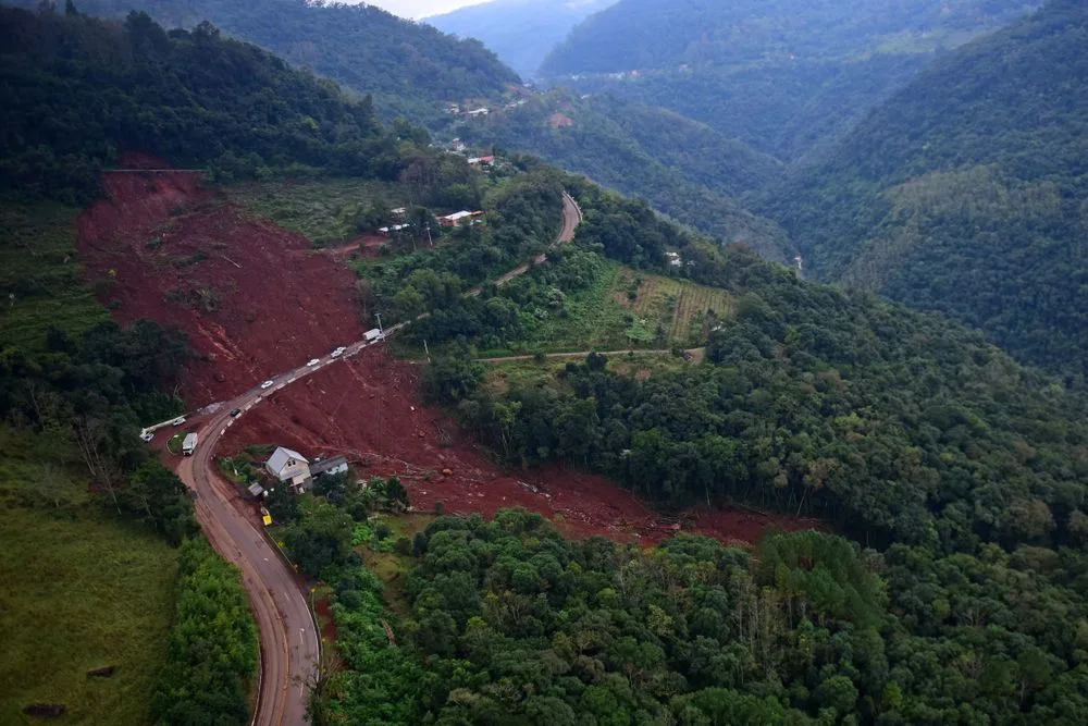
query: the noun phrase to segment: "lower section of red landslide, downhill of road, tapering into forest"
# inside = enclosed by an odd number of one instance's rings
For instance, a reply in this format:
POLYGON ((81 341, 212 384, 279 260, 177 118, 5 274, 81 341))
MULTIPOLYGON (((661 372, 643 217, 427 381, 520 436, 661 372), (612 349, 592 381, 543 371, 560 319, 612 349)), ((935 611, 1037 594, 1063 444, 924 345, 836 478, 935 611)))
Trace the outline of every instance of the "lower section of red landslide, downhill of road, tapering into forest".
POLYGON ((442 411, 424 406, 418 392, 417 367, 371 347, 273 394, 238 419, 220 447, 235 453, 252 443, 276 443, 311 457, 342 453, 360 477, 400 477, 418 510, 442 502, 449 514, 490 517, 521 506, 555 519, 573 537, 650 544, 688 531, 757 542, 768 528, 815 524, 739 510, 664 517, 604 477, 555 466, 503 471, 442 411))

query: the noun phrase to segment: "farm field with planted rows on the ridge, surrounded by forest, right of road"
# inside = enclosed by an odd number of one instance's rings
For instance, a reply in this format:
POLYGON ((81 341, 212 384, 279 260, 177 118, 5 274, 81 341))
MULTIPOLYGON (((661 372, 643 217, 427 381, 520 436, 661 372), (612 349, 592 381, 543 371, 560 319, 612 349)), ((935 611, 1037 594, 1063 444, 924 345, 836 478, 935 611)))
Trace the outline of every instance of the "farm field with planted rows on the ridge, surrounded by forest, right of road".
POLYGON ((729 293, 607 262, 596 284, 571 295, 529 352, 697 347, 714 321, 732 313, 729 293))

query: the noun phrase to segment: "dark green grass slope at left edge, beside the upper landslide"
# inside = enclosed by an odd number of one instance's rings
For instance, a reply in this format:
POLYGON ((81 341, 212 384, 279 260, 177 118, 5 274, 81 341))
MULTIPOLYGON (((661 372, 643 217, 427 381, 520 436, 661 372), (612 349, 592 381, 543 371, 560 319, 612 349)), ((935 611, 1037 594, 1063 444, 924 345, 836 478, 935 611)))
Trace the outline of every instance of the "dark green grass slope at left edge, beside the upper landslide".
POLYGON ((81 281, 78 210, 0 198, 0 345, 39 349, 54 325, 78 337, 109 312, 81 281))

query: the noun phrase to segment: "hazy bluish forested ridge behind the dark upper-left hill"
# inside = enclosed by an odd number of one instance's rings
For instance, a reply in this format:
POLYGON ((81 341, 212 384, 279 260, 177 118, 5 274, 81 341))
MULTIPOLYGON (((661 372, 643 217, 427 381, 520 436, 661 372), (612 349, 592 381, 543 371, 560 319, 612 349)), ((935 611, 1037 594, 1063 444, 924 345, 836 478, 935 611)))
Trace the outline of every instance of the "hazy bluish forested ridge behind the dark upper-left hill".
MULTIPOLYGON (((10 0, 9 0, 10 1, 10 0)), ((38 0, 14 0, 25 8, 38 0)), ((57 3, 59 7, 63 3, 57 3)), ((500 95, 516 73, 478 40, 458 40, 368 4, 308 0, 78 0, 81 12, 144 11, 166 27, 209 21, 296 67, 372 95, 383 116, 422 119, 442 100, 500 95)))

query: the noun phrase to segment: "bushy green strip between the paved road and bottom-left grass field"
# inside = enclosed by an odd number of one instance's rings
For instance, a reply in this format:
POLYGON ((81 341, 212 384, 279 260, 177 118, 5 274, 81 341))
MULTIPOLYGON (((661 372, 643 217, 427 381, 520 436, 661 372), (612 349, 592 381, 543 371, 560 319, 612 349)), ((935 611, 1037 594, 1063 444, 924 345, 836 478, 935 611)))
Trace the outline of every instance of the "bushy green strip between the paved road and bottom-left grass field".
POLYGON ((260 651, 239 574, 203 540, 186 541, 177 554, 177 614, 153 699, 158 723, 246 724, 260 651))

